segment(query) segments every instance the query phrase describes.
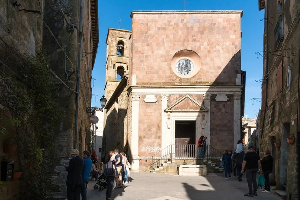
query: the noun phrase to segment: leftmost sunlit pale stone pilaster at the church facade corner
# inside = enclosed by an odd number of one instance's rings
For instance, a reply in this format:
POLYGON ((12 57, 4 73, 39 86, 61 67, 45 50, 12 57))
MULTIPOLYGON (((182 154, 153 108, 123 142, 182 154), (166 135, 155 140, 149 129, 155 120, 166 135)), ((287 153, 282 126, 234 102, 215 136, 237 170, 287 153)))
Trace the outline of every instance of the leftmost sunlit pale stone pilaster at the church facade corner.
POLYGON ((132 155, 132 171, 139 169, 139 150, 138 150, 138 128, 139 128, 139 95, 132 96, 132 118, 131 118, 131 155, 132 155))

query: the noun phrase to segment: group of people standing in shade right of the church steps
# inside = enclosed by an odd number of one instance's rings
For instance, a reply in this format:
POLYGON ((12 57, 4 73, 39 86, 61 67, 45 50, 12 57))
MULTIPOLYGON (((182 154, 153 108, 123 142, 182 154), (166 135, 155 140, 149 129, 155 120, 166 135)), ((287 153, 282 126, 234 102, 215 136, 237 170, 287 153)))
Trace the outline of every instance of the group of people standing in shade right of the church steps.
POLYGON ((237 148, 234 153, 229 153, 228 150, 224 151, 221 161, 224 162, 225 178, 231 179, 232 172, 232 160, 234 163, 234 172, 236 169, 238 181, 242 181, 243 174, 246 175, 249 193, 244 196, 257 196, 257 173, 263 174, 265 179, 265 190, 263 192, 269 193, 270 181, 269 174, 272 173, 273 169, 273 157, 271 156, 270 150, 264 152, 265 157, 260 160, 260 156, 256 153, 253 146, 249 146, 247 152, 244 152, 243 143, 241 140, 237 142, 237 148))

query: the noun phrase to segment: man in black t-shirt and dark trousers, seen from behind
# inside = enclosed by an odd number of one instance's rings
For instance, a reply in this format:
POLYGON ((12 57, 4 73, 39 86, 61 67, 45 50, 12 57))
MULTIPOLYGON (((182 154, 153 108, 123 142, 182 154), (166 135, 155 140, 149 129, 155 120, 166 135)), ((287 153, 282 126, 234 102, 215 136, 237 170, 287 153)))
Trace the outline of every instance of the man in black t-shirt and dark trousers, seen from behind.
POLYGON ((249 187, 249 193, 244 196, 257 196, 257 181, 256 175, 259 167, 259 173, 262 173, 262 167, 260 163, 260 157, 255 153, 253 146, 249 146, 248 152, 245 154, 244 160, 242 162, 241 172, 246 173, 246 178, 249 187))

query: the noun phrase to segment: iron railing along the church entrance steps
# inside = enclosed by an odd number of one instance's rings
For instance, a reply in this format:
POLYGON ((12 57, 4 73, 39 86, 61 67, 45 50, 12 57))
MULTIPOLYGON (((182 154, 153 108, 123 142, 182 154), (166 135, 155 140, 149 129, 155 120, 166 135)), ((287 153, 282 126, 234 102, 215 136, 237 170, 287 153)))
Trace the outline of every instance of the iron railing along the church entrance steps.
POLYGON ((200 159, 213 160, 213 163, 220 165, 220 159, 223 153, 210 145, 206 145, 204 156, 200 157, 198 146, 196 144, 175 144, 169 145, 161 151, 155 153, 151 157, 151 172, 159 166, 164 166, 167 163, 173 163, 174 160, 200 159))

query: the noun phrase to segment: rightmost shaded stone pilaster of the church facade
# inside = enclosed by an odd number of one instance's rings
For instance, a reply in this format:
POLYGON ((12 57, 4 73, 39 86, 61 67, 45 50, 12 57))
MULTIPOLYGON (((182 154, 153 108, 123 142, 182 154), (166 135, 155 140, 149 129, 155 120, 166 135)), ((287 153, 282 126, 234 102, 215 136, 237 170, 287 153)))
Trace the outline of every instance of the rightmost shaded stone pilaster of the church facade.
POLYGON ((240 139, 240 98, 241 94, 233 94, 234 99, 234 127, 233 127, 233 138, 234 138, 234 144, 233 144, 233 150, 236 148, 237 141, 240 139))

